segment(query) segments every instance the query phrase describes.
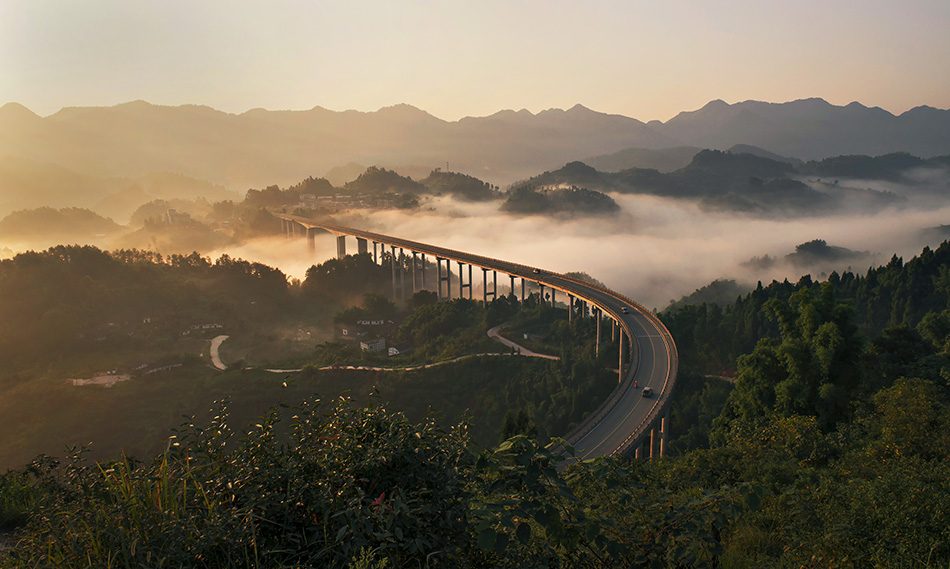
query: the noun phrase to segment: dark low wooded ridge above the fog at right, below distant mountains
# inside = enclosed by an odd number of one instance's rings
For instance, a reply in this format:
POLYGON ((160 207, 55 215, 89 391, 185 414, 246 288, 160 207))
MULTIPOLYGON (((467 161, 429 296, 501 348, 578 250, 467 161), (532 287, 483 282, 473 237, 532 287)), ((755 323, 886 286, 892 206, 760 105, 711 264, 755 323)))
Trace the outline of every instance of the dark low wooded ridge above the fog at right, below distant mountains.
POLYGON ((915 198, 929 200, 926 203, 929 208, 947 200, 943 187, 950 181, 950 168, 945 166, 943 157, 922 160, 899 153, 801 163, 772 158, 771 153, 761 149, 751 150, 756 153, 703 150, 696 153, 689 164, 669 173, 647 168, 609 173, 582 162, 570 162, 519 185, 583 186, 601 192, 651 194, 695 200, 708 211, 764 217, 878 211, 915 198), (904 185, 902 193, 897 194, 847 183, 839 185, 837 179, 827 179, 832 174, 904 185), (874 178, 875 175, 881 177, 874 178), (933 198, 938 201, 934 202, 933 198))

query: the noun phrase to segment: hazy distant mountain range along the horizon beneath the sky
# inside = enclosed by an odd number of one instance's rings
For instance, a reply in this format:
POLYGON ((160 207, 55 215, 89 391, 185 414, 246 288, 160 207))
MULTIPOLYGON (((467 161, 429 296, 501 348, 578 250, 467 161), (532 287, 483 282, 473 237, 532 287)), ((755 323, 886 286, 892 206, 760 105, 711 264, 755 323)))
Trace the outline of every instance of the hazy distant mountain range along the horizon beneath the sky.
POLYGON ((315 107, 234 115, 136 101, 66 108, 48 117, 16 103, 0 107, 0 158, 100 177, 174 172, 242 193, 321 176, 352 162, 420 170, 448 163, 452 171, 506 185, 572 160, 618 153, 626 160, 621 168, 672 171, 692 148, 735 145, 753 145, 791 160, 898 151, 929 158, 950 154, 950 111, 917 107, 895 116, 822 99, 713 101, 666 122, 644 123, 581 105, 537 114, 500 111, 455 122, 409 105, 369 113, 315 107), (678 154, 648 152, 676 148, 678 154), (659 167, 671 156, 672 163, 659 167))

